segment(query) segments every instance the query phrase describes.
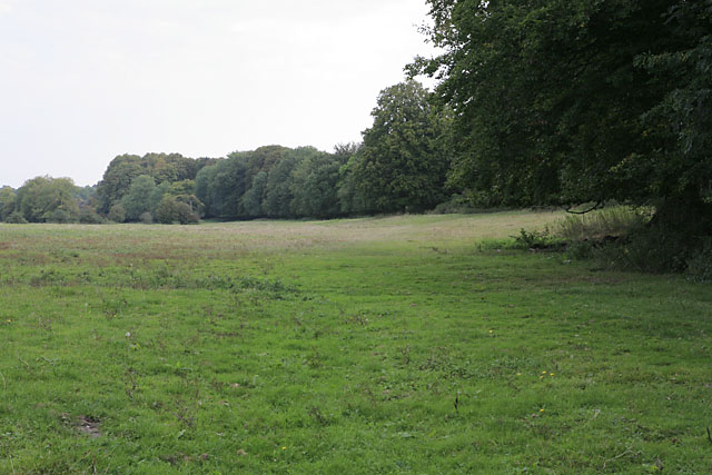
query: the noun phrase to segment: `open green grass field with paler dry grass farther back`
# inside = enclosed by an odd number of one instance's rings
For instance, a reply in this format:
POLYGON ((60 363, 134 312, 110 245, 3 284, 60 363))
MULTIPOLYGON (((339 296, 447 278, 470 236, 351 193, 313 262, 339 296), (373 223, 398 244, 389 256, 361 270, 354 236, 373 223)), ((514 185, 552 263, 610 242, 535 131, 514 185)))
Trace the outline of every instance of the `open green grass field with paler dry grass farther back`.
POLYGON ((560 216, 0 225, 0 473, 712 473, 712 287, 560 216))

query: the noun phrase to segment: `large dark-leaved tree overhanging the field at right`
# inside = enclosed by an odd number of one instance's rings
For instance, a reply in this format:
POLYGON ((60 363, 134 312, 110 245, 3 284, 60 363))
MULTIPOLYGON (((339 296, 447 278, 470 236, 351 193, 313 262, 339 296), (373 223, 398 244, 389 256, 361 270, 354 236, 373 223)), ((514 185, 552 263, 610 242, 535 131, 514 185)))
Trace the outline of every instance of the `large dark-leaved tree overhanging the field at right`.
POLYGON ((454 182, 491 204, 704 208, 709 0, 428 3, 444 52, 411 70, 455 110, 454 182))

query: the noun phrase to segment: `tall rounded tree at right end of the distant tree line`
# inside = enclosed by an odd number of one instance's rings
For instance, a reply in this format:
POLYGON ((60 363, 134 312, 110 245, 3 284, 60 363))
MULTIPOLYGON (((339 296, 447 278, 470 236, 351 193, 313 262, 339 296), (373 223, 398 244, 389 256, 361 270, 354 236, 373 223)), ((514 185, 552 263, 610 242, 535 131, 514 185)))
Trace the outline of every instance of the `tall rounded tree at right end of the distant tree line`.
POLYGON ((354 169, 367 210, 422 211, 444 197, 449 115, 409 80, 380 91, 354 169))

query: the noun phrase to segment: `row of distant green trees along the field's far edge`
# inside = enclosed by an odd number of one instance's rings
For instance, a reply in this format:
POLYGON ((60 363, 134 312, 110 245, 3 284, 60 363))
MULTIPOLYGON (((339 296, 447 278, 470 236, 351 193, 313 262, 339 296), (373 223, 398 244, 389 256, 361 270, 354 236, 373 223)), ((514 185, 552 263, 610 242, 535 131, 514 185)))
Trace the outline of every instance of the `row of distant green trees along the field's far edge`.
POLYGON ((447 198, 452 113, 409 80, 384 89, 363 144, 266 146, 225 158, 121 155, 101 181, 37 177, 0 190, 6 222, 198 222, 419 212, 447 198))

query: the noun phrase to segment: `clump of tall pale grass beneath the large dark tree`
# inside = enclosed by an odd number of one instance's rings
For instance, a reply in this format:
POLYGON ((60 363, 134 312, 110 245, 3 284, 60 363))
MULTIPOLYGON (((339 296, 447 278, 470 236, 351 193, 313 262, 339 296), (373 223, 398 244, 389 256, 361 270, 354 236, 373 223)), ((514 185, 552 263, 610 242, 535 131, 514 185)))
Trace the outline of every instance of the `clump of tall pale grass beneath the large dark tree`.
POLYGON ((620 238, 642 229, 651 219, 649 208, 614 206, 585 215, 570 215, 554 225, 554 234, 570 243, 620 238))

